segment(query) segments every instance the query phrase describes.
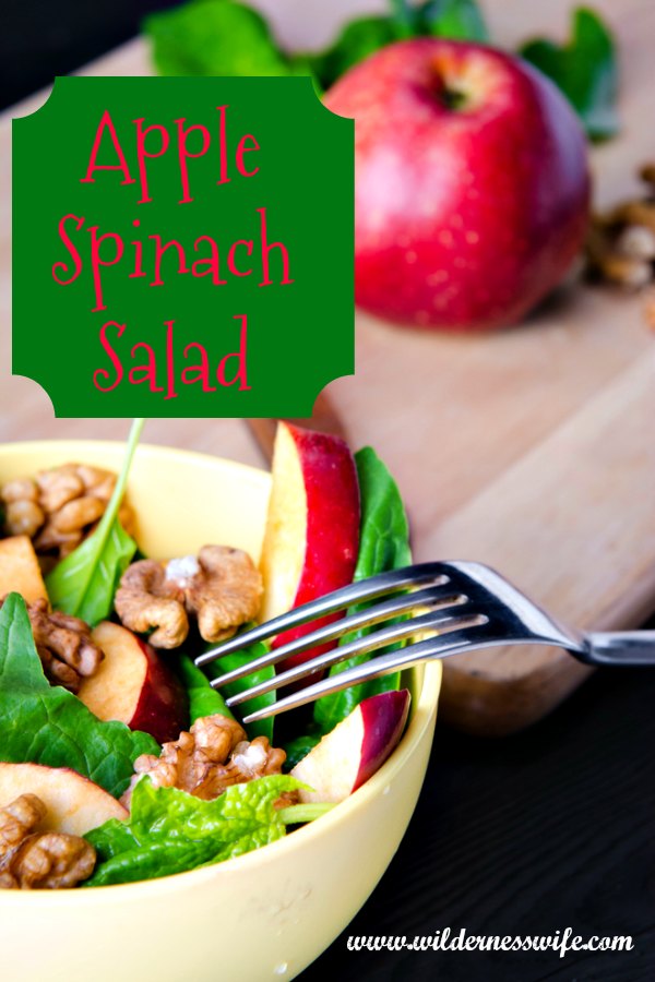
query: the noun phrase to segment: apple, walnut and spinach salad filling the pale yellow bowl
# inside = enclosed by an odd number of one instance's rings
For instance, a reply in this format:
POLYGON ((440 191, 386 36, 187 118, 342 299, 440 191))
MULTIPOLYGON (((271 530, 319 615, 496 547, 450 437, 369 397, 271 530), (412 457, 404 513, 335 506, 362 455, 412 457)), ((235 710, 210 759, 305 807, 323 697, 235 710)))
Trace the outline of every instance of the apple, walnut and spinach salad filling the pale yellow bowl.
POLYGON ((118 477, 85 462, 0 474, 2 888, 131 883, 239 857, 347 798, 405 727, 409 693, 392 674, 245 728, 225 699, 275 668, 210 683, 266 645, 193 661, 409 562, 403 503, 374 452, 281 423, 259 566, 214 542, 155 560, 128 488, 143 422, 118 477))

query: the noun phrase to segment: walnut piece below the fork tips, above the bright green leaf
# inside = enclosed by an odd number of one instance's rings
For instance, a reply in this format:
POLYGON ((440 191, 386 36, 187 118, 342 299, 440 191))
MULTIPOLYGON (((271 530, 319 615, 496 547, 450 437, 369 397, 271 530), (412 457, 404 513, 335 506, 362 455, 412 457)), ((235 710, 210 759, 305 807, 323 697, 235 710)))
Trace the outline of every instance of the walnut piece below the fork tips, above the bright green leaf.
POLYGON ((180 788, 211 801, 230 785, 281 774, 285 761, 286 753, 272 747, 265 736, 249 742, 236 720, 221 714, 205 716, 174 743, 165 743, 158 757, 142 754, 136 758, 134 776, 121 803, 129 807, 134 786, 145 774, 156 788, 180 788))

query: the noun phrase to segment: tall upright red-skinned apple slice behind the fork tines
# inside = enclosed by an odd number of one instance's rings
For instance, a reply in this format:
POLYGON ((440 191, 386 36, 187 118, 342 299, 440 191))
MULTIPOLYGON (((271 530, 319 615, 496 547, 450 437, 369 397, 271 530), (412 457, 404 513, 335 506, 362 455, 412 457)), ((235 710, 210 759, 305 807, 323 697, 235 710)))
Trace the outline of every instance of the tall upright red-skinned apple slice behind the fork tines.
MULTIPOLYGON (((359 482, 347 444, 338 436, 278 423, 260 563, 262 620, 352 583, 358 550, 359 482)), ((274 647, 340 616, 332 614, 287 631, 274 647)), ((299 664, 331 647, 321 645, 291 656, 283 666, 299 664)))

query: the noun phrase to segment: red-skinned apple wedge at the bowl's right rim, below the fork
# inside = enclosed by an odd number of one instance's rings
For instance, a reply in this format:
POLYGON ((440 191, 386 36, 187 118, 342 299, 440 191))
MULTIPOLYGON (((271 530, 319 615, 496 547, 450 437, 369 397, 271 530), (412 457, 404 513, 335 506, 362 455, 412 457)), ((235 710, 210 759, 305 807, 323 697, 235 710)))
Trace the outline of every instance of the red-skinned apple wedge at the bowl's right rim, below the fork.
POLYGON ((291 770, 313 788, 301 801, 343 801, 386 761, 405 729, 410 696, 381 692, 369 696, 311 750, 291 770))

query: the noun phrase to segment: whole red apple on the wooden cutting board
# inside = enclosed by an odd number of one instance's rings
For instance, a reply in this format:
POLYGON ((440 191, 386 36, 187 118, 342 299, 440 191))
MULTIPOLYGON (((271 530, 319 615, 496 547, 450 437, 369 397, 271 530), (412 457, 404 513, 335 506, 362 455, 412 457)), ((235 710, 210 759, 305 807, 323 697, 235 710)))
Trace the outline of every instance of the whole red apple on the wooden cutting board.
POLYGON ((536 69, 417 38, 355 65, 325 105, 356 120, 362 308, 416 327, 491 330, 561 280, 587 224, 586 142, 536 69))

